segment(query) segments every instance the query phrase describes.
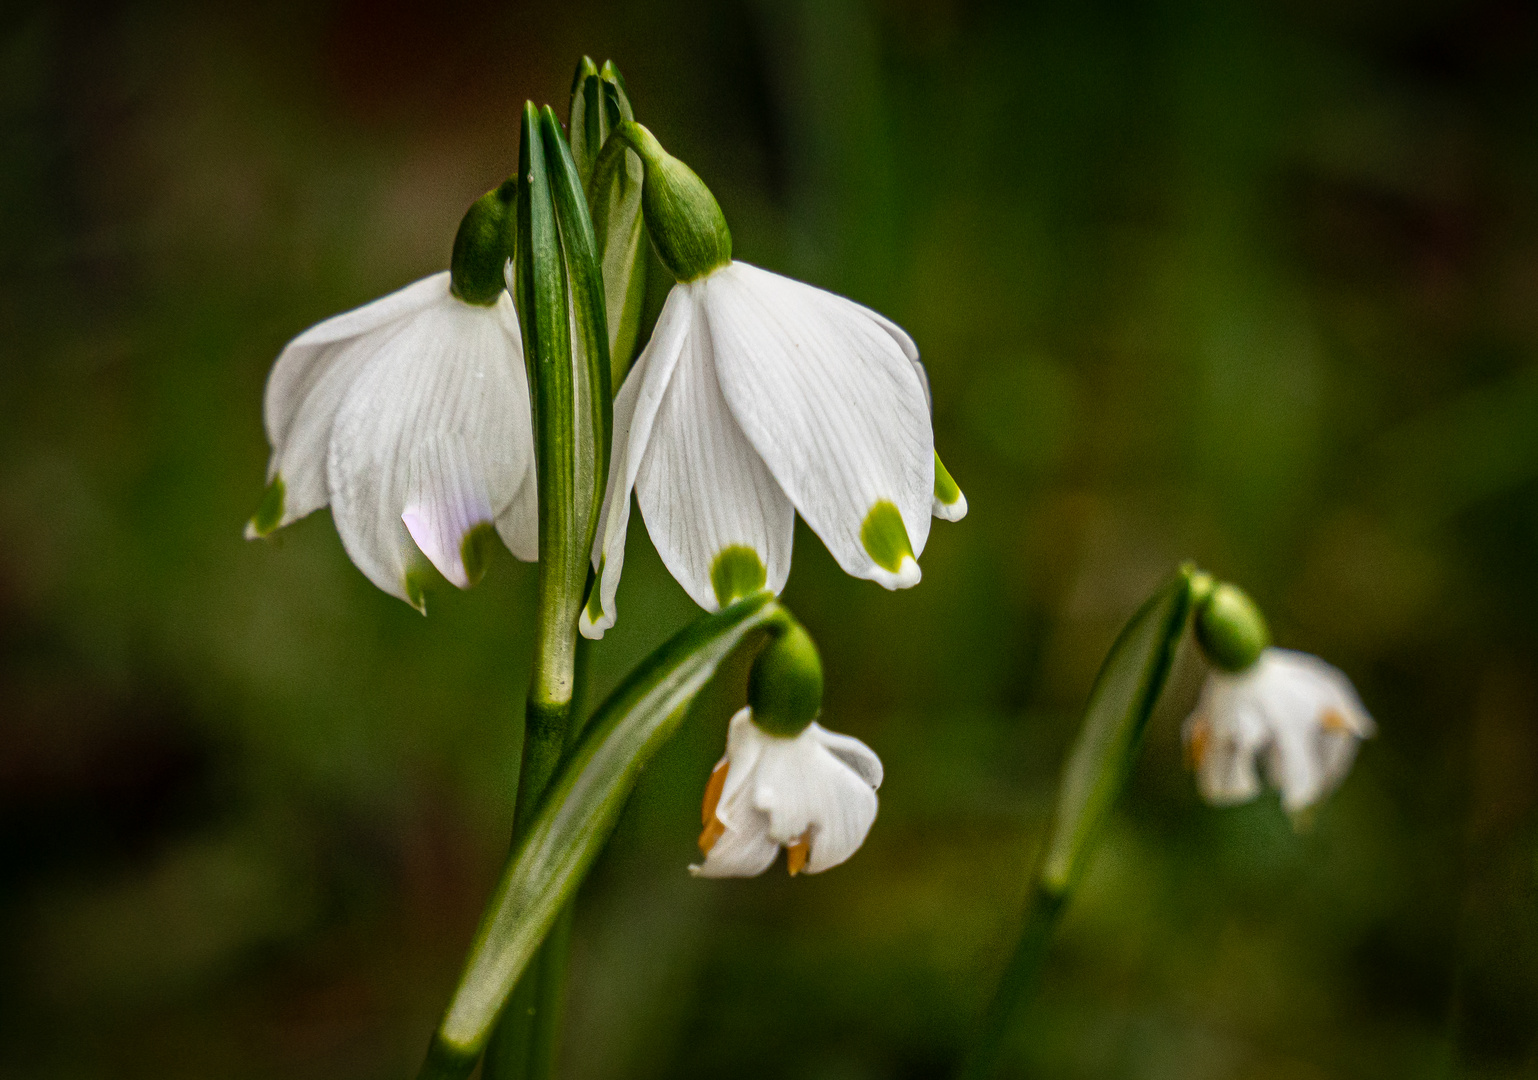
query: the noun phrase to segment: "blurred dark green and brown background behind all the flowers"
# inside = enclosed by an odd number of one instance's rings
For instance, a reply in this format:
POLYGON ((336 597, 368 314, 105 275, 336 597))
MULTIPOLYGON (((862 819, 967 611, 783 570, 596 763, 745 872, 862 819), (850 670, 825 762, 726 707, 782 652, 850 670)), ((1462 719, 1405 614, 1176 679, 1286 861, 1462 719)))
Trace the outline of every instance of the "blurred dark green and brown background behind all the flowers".
MULTIPOLYGON (((564 1075, 944 1075, 1095 668, 1193 557, 1381 734, 1309 829, 1209 809, 1187 649, 1006 1072, 1538 1077, 1538 17, 1421 0, 0 8, 0 1075, 414 1072, 534 571, 421 618, 325 512, 246 543, 261 386, 446 266, 583 52, 740 257, 912 332, 972 512, 901 594, 798 531, 881 817, 691 880, 727 678, 581 895, 564 1075)), ((694 615, 638 528, 620 609, 600 692, 694 615)))

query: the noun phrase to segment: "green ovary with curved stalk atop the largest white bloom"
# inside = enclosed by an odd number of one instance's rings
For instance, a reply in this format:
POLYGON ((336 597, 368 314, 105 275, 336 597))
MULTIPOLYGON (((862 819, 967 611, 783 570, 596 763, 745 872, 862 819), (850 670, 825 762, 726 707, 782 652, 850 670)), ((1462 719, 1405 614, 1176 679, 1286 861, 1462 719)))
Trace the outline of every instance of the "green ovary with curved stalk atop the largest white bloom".
MULTIPOLYGON (((604 155, 629 146, 641 158, 641 215, 663 266, 675 282, 695 282, 732 262, 732 234, 715 195, 694 169, 663 149, 646 128, 626 120, 614 129, 604 155)), ((603 172, 603 163, 597 172, 603 172)))

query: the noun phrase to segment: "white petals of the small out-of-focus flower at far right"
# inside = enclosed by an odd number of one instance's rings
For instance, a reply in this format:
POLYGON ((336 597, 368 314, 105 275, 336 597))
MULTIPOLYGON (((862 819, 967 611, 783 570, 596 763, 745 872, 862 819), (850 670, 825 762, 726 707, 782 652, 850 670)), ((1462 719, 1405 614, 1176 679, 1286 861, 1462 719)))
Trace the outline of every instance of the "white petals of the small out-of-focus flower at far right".
POLYGON ((1261 772, 1289 814, 1330 794, 1375 726, 1350 680, 1318 657, 1267 648, 1240 672, 1207 677, 1184 738, 1209 803, 1244 803, 1261 772))

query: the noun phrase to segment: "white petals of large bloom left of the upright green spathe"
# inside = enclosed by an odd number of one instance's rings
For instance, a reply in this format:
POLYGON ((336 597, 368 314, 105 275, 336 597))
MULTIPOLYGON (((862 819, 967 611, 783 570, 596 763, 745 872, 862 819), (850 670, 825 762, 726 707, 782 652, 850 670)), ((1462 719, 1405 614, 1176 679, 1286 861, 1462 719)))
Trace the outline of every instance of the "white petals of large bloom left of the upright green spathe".
POLYGON ((512 298, 435 274, 300 334, 268 378, 272 458, 248 537, 331 505, 371 582, 423 606, 424 562, 469 588, 492 529, 537 557, 528 374, 512 298))

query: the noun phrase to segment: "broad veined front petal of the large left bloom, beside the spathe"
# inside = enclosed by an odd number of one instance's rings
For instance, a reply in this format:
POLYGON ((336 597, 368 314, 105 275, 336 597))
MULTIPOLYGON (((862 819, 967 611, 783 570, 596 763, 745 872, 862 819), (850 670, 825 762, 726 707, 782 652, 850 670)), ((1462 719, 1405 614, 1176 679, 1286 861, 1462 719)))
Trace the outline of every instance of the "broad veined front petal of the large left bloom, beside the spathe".
POLYGON ((383 343, 337 411, 328 482, 341 543, 369 580, 409 600, 406 574, 418 555, 401 520, 408 505, 418 514, 431 505, 424 520, 452 522, 461 512, 452 503, 468 498, 466 506, 497 517, 524 482, 532 454, 511 298, 481 308, 449 297, 383 343), (455 440, 475 468, 431 488, 423 448, 455 440), (480 492, 464 495, 477 486, 480 492))

